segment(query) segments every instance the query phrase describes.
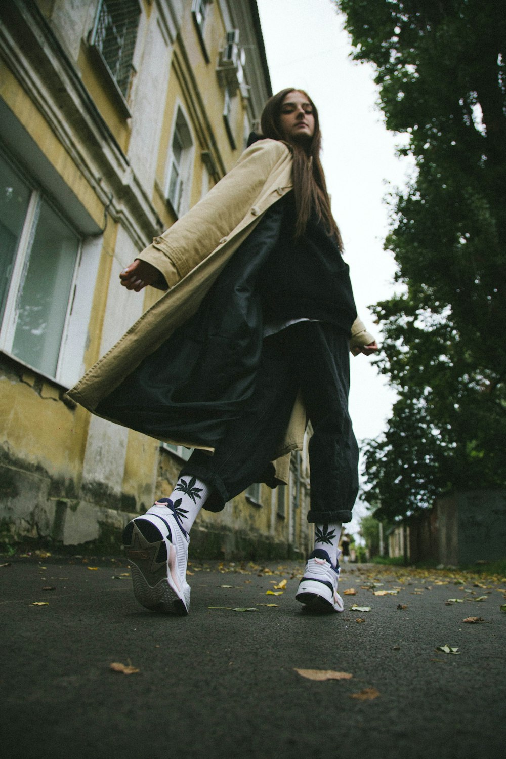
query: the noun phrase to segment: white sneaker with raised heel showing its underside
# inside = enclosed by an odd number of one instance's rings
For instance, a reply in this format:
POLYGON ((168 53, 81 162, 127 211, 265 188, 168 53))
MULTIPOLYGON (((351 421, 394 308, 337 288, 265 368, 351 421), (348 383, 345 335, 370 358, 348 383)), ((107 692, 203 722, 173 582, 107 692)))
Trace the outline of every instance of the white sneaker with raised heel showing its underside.
POLYGON ((186 616, 190 609, 186 581, 190 536, 171 500, 160 499, 146 514, 130 521, 123 531, 123 543, 139 603, 153 611, 186 616))

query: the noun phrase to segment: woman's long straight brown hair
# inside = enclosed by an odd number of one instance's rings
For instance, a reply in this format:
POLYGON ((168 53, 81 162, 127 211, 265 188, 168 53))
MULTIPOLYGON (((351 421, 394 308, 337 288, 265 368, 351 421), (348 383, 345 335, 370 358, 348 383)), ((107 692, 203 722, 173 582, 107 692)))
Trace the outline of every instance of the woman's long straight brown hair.
POLYGON ((281 92, 269 98, 262 111, 260 120, 262 137, 270 137, 272 140, 284 140, 284 135, 281 133, 280 128, 281 106, 283 105, 284 98, 293 92, 302 93, 306 96, 313 109, 315 119, 315 130, 310 140, 306 143, 288 143, 294 158, 292 174, 295 208, 297 210, 295 237, 299 238, 303 235, 311 211, 314 209, 317 218, 323 220, 328 235, 335 237, 339 250, 342 251, 343 241, 338 225, 332 216, 325 174, 323 173, 322 163, 319 158, 322 148, 322 133, 319 128, 318 110, 310 96, 304 90, 297 90, 297 87, 287 87, 285 90, 281 90, 281 92))

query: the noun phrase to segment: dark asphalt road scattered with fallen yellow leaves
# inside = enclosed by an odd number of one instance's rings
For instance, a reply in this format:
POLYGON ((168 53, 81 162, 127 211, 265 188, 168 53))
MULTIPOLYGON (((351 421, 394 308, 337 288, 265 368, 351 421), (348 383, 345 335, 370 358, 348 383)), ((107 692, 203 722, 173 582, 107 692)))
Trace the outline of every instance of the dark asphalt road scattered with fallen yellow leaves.
POLYGON ((178 618, 137 605, 124 559, 7 562, 4 759, 504 757, 501 578, 475 587, 473 575, 348 565, 345 612, 311 616, 294 600, 302 565, 209 562, 190 566, 190 616, 178 618))

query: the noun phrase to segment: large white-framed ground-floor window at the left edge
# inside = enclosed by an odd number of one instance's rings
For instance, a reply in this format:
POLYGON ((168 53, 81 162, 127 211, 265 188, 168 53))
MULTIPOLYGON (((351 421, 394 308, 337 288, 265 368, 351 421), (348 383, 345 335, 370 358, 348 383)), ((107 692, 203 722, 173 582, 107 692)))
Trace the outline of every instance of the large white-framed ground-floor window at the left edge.
POLYGON ((0 347, 57 377, 80 238, 0 155, 0 347))

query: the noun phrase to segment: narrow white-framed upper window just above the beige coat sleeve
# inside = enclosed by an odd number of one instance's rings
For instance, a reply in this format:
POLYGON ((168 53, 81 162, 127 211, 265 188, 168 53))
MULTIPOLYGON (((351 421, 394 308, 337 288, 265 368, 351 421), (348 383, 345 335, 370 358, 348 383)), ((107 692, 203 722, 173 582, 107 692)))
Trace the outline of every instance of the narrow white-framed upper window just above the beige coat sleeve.
POLYGON ((190 207, 192 156, 193 141, 190 130, 181 108, 178 108, 165 184, 165 196, 170 200, 177 216, 181 216, 190 207))

